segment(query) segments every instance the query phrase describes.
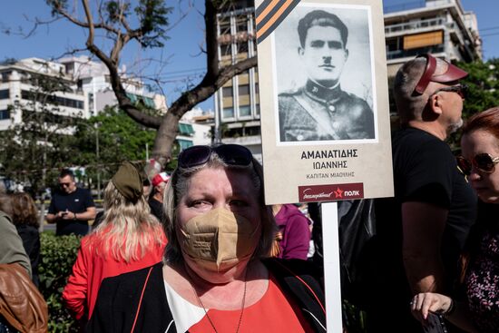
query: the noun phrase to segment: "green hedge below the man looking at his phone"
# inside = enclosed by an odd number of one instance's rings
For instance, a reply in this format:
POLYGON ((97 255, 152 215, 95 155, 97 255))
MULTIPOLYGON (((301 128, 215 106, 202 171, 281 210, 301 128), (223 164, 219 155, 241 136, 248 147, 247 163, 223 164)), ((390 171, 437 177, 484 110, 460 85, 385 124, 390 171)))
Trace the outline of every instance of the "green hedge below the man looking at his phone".
POLYGON ((42 262, 38 267, 40 291, 47 301, 50 332, 77 332, 77 324, 62 303, 62 293, 76 260, 81 237, 40 235, 42 262))

